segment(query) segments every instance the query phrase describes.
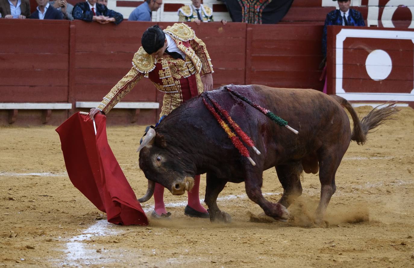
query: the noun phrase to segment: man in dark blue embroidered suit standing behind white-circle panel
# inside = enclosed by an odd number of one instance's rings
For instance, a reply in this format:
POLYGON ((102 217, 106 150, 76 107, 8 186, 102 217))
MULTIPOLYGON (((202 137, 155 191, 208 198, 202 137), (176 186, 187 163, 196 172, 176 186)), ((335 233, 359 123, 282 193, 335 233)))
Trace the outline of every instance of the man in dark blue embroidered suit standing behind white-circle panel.
POLYGON ((361 13, 350 9, 350 4, 350 0, 338 0, 339 10, 333 10, 326 15, 322 36, 322 53, 324 57, 326 57, 326 28, 328 25, 365 26, 361 13))

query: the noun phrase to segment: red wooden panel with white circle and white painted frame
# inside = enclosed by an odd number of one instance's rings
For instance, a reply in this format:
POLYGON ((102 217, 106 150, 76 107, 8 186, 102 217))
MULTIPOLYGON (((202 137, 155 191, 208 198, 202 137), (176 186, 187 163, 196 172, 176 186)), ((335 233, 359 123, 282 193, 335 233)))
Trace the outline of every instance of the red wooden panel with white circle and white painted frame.
POLYGON ((328 93, 414 104, 414 29, 328 27, 328 93))

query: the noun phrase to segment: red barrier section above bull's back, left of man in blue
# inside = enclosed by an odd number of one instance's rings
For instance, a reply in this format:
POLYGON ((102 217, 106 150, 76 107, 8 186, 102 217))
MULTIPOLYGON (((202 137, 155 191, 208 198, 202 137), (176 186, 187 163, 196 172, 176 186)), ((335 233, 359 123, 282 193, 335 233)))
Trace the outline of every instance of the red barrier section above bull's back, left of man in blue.
POLYGON ((316 25, 249 24, 246 84, 322 90, 318 70, 322 29, 316 25))

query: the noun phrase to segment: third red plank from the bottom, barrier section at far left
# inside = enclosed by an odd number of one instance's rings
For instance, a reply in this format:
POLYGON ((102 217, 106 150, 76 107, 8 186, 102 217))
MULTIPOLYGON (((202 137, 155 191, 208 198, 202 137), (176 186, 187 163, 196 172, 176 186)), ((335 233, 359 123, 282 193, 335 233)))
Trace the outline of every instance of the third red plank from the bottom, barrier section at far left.
MULTIPOLYGON (((0 70, 67 70, 68 54, 0 53, 0 70)), ((21 74, 16 74, 20 77, 21 74)))

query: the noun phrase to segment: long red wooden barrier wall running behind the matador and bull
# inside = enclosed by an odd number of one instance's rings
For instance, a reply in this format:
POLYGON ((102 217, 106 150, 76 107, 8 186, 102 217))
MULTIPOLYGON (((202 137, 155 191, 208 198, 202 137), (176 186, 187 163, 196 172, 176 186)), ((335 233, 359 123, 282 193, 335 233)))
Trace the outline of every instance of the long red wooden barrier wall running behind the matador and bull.
MULTIPOLYGON (((171 23, 159 24, 166 27, 171 23)), ((69 112, 53 111, 51 123, 60 123, 78 111, 76 101, 100 101, 130 70, 141 34, 150 25, 0 20, 4 36, 0 42, 0 102, 72 103, 69 112)), ((317 69, 321 26, 214 22, 191 23, 190 27, 207 45, 215 70, 214 87, 257 83, 322 88, 317 69)), ((124 100, 161 102, 162 94, 143 78, 124 100)), ((113 109, 108 121, 128 123, 129 113, 113 109)), ((0 115, 0 121, 6 123, 7 112, 0 111, 0 115)), ((142 110, 137 123, 153 124, 158 115, 159 111, 142 110)), ((19 112, 16 123, 27 123, 21 119, 19 112)))

